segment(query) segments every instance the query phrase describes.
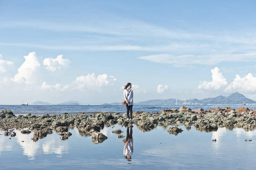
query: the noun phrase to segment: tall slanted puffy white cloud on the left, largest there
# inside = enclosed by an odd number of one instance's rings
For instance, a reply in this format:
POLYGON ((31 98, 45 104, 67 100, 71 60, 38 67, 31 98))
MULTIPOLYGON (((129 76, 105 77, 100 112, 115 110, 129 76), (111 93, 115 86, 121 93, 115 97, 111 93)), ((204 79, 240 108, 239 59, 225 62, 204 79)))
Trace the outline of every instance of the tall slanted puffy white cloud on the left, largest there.
POLYGON ((35 52, 30 52, 28 56, 24 56, 24 63, 18 68, 18 73, 14 76, 14 82, 32 84, 34 82, 35 72, 40 67, 40 63, 35 52))

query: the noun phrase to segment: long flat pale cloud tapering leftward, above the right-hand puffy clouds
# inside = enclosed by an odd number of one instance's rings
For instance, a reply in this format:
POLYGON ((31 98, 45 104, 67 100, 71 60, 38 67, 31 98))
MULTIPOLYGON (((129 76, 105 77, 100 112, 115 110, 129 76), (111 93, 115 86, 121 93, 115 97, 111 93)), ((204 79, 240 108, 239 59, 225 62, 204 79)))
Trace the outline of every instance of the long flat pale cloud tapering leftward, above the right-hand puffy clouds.
POLYGON ((138 57, 155 63, 173 64, 178 67, 186 67, 193 64, 215 65, 220 62, 256 61, 256 53, 232 54, 223 52, 212 55, 170 55, 156 54, 138 57))

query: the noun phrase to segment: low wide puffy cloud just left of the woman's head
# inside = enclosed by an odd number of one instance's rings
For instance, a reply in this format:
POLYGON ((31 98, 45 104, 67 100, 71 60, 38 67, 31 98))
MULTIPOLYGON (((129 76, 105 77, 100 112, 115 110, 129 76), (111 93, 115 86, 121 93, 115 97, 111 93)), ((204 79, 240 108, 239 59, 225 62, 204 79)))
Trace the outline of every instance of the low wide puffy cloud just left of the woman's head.
POLYGON ((106 85, 113 85, 117 79, 113 76, 108 76, 107 74, 95 76, 94 73, 88 75, 82 75, 76 78, 77 88, 82 90, 85 87, 101 87, 106 85))

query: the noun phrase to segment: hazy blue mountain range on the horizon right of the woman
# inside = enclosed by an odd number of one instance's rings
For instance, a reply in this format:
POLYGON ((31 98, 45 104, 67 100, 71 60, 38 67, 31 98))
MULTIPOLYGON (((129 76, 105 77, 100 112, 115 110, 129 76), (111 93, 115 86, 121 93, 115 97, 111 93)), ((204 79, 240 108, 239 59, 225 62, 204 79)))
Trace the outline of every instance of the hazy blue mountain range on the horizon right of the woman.
MULTIPOLYGON (((177 104, 184 104, 184 100, 177 100, 177 104)), ((246 98, 244 95, 236 92, 231 95, 217 96, 214 98, 206 98, 202 100, 198 99, 189 99, 186 100, 186 104, 256 104, 256 101, 246 98)), ((176 99, 167 99, 167 100, 147 100, 135 103, 136 105, 174 105, 176 104, 176 99)), ((115 104, 111 104, 115 105, 115 104)))

